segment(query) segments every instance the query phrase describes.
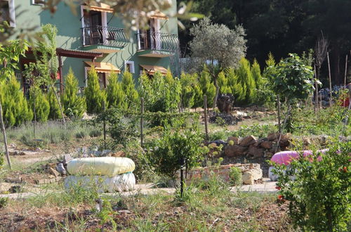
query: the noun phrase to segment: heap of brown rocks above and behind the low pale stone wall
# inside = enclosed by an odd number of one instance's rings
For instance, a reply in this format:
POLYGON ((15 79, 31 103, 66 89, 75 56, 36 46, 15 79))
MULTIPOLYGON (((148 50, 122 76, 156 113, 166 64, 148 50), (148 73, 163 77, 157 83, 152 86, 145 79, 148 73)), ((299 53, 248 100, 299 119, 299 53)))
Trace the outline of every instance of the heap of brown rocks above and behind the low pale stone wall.
POLYGON ((255 136, 245 138, 229 137, 224 154, 227 157, 242 157, 249 155, 253 158, 271 157, 279 150, 286 150, 290 145, 291 134, 272 133, 267 138, 257 139, 255 136), (279 139, 280 138, 280 139, 279 139))

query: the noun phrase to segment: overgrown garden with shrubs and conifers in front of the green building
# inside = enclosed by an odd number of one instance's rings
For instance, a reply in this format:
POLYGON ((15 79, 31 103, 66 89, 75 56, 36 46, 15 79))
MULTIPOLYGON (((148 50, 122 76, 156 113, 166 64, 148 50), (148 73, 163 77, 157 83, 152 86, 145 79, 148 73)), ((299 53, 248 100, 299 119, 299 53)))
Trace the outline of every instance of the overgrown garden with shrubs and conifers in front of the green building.
POLYGON ((15 77, 29 42, 1 45, 1 230, 350 231, 350 104, 342 104, 350 92, 319 103, 313 51, 279 63, 270 53, 260 67, 244 58, 242 27, 225 29, 237 45, 215 46, 223 53, 203 50, 202 30, 217 40, 223 28, 205 19, 192 30, 194 54, 218 53, 219 64, 194 60, 197 70, 143 73, 137 82, 112 72, 106 89, 91 68, 83 94, 70 70, 60 96, 53 25, 30 45, 29 96, 15 77), (271 160, 286 151, 298 158, 271 160), (70 176, 85 178, 77 160, 114 157, 133 162, 120 173, 130 186, 101 189, 100 173, 67 187, 70 176), (272 182, 270 167, 279 176, 273 191, 244 188, 272 182))

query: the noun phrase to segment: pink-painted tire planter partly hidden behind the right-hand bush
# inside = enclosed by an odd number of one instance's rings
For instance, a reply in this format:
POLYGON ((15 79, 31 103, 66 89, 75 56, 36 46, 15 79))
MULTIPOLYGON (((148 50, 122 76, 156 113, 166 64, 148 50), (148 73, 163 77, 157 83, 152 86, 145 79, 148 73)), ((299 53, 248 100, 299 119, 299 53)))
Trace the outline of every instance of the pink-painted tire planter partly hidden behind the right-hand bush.
MULTIPOLYGON (((323 149, 323 150, 317 150, 317 153, 326 153, 329 149, 323 149)), ((303 157, 308 157, 310 155, 313 155, 312 150, 303 150, 302 152, 298 152, 296 150, 286 150, 286 151, 281 151, 279 153, 275 153, 272 158, 270 159, 272 162, 279 164, 279 165, 286 165, 289 167, 291 161, 299 159, 300 158, 300 153, 303 153, 303 157)), ((311 158, 312 160, 312 158, 311 158)), ((317 157, 317 160, 322 160, 322 157, 317 157)), ((277 181, 278 175, 273 174, 272 170, 274 167, 270 167, 268 169, 268 176, 270 177, 271 181, 277 181)), ((294 179, 295 176, 291 176, 291 179, 294 179)))

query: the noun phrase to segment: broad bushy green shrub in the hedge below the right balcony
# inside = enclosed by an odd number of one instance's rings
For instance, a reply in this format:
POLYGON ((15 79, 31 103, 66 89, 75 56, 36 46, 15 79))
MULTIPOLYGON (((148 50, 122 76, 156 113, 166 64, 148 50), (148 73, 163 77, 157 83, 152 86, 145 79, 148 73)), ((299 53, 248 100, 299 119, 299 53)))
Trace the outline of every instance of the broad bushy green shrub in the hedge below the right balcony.
POLYGON ((166 78, 156 72, 151 79, 144 73, 139 77, 139 95, 144 98, 145 110, 174 112, 180 103, 180 81, 168 72, 166 78))

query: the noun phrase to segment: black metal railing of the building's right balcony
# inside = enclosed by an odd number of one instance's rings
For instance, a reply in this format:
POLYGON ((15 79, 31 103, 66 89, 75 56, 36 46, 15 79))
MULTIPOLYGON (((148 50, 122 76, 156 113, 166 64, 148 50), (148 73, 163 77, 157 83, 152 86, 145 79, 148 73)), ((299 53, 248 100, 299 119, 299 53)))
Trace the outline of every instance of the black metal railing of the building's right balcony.
POLYGON ((139 32, 136 34, 136 41, 137 51, 176 51, 178 49, 178 36, 176 34, 139 32))

